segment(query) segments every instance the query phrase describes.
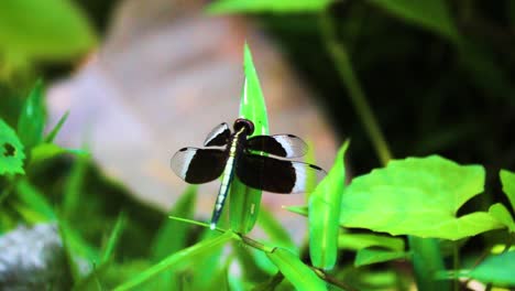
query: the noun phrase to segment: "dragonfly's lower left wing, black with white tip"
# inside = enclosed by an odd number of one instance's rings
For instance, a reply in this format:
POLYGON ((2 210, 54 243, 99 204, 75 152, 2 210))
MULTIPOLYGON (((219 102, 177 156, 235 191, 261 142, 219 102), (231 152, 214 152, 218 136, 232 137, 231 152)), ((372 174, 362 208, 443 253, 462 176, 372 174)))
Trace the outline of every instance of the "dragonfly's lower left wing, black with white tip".
POLYGON ((190 184, 201 184, 219 177, 228 154, 218 149, 183 148, 172 158, 175 174, 190 184))

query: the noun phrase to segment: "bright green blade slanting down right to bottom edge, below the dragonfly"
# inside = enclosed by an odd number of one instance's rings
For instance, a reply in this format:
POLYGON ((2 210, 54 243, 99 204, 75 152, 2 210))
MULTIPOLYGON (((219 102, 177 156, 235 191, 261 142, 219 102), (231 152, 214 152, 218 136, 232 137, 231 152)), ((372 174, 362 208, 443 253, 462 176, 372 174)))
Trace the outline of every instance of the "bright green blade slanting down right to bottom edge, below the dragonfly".
POLYGON ((266 252, 266 256, 296 290, 327 290, 326 282, 289 250, 275 248, 272 252, 266 252))

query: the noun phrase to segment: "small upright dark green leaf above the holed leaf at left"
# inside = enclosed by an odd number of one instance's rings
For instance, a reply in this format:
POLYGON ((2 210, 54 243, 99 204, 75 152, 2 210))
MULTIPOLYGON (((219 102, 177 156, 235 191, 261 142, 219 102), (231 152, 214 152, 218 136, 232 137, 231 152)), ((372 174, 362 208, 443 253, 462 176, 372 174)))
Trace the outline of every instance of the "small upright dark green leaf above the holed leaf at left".
POLYGON ((43 129, 45 127, 43 94, 43 82, 39 80, 25 99, 18 119, 18 136, 26 150, 40 144, 43 140, 43 129))

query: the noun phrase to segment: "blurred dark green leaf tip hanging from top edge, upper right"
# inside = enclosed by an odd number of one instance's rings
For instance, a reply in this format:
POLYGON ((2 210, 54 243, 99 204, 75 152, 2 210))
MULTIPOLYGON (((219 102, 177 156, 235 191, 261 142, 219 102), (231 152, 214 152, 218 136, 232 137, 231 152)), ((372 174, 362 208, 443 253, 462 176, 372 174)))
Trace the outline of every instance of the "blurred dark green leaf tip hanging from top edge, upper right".
POLYGON ((393 15, 440 34, 452 41, 459 39, 449 8, 445 0, 369 0, 393 15))

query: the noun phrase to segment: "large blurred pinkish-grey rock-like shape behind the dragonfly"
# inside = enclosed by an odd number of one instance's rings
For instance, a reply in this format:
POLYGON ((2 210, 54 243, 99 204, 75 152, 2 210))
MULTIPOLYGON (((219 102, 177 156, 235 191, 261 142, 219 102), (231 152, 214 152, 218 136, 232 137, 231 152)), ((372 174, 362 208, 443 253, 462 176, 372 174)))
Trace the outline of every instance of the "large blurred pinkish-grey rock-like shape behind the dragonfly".
MULTIPOLYGON (((54 122, 70 110, 57 142, 80 147, 86 140, 108 175, 142 201, 167 209, 187 186, 169 169, 174 152, 201 147, 212 127, 238 117, 245 40, 266 99, 271 133, 310 141, 317 163, 330 168, 336 144, 327 120, 271 42, 245 19, 202 14, 197 1, 122 2, 99 52, 48 90, 54 122)), ((198 205, 205 217, 218 186, 213 182, 200 187, 198 205)), ((303 200, 263 195, 273 209, 303 200)))

